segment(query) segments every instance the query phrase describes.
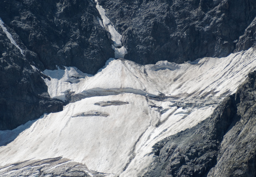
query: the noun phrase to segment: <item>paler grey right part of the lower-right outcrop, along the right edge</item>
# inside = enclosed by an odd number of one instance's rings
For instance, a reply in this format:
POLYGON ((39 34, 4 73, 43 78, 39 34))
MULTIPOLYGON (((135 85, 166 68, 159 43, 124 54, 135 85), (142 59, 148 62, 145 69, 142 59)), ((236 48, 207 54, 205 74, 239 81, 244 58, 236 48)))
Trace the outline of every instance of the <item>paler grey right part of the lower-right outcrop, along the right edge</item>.
POLYGON ((208 177, 256 176, 256 71, 250 73, 235 95, 239 120, 225 134, 218 162, 208 177))

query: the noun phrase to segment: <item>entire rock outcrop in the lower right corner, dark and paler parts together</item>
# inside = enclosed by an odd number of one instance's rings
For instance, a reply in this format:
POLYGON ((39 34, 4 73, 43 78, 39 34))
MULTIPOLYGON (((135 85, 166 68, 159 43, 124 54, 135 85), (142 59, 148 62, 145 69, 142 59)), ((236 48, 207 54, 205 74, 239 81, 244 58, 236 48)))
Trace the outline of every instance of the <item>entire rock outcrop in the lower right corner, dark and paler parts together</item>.
POLYGON ((145 177, 254 177, 256 72, 197 126, 154 148, 145 177))

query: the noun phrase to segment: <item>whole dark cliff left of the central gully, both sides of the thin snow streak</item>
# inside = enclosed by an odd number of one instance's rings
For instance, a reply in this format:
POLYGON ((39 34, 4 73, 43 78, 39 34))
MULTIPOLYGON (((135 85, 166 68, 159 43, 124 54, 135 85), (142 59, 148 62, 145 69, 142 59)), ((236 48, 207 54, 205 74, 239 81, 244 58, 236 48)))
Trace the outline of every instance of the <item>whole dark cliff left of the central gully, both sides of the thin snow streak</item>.
POLYGON ((94 74, 114 56, 98 16, 90 0, 0 2, 3 25, 24 53, 0 28, 0 130, 63 109, 49 97, 40 71, 65 65, 94 74))

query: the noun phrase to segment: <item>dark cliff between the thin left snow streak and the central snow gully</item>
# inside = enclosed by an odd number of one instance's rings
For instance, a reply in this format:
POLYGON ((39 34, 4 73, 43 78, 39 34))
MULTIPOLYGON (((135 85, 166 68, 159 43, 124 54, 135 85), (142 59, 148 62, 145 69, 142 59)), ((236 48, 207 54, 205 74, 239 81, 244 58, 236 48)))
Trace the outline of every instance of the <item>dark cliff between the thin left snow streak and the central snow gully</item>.
POLYGON ((39 69, 64 65, 95 74, 103 67, 114 51, 97 17, 92 0, 0 1, 0 18, 37 54, 39 69))

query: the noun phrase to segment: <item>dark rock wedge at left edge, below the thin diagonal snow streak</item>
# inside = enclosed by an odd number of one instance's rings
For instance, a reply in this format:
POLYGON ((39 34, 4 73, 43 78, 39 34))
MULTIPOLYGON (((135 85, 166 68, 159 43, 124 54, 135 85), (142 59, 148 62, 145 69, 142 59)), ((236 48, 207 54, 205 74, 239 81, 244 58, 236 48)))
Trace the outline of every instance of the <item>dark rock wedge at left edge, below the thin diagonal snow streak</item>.
POLYGON ((34 58, 34 53, 24 53, 22 56, 0 28, 0 130, 63 109, 61 101, 50 98, 41 73, 30 65, 27 58, 34 58))

